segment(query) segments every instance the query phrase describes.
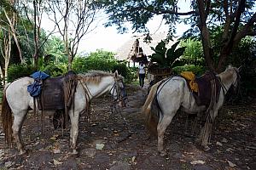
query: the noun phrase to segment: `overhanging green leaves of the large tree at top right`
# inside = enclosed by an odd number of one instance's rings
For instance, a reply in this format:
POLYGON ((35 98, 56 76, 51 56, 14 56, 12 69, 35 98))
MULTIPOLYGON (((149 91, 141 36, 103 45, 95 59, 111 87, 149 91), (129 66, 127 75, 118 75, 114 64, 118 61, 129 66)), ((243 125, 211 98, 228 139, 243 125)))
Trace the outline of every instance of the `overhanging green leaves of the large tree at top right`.
MULTIPOLYGON (((216 23, 223 23, 225 20, 224 5, 218 1, 209 1, 211 8, 209 10, 209 18, 212 22, 208 22, 209 26, 214 26, 216 23)), ((221 1, 223 2, 223 1, 221 1)), ((146 24, 148 20, 152 20, 155 15, 162 15, 167 26, 169 26, 169 35, 173 35, 176 32, 177 27, 175 26, 178 22, 184 22, 186 25, 190 25, 189 31, 187 31, 187 37, 196 35, 199 33, 198 20, 200 15, 198 12, 198 4, 195 0, 190 3, 190 10, 192 13, 188 14, 188 17, 179 17, 176 13, 178 8, 182 8, 183 3, 177 3, 177 0, 162 1, 162 0, 116 0, 114 1, 102 1, 105 5, 105 11, 109 15, 108 23, 106 26, 118 26, 120 32, 128 30, 125 22, 129 20, 132 24, 133 31, 148 31, 146 24)), ((185 2, 189 3, 189 2, 185 2)), ((230 11, 236 11, 239 2, 233 2, 230 11)), ((246 21, 253 16, 253 6, 255 5, 254 0, 247 0, 243 17, 241 18, 241 24, 245 24, 246 21)), ((255 7, 255 6, 254 6, 255 7)), ((188 26, 189 28, 189 26, 188 26)))

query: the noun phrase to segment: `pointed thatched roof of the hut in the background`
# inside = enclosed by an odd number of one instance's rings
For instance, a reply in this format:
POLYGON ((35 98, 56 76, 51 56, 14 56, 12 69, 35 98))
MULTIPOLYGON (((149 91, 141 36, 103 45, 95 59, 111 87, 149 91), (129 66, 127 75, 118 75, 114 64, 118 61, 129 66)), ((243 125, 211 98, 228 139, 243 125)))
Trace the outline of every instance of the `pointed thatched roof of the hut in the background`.
MULTIPOLYGON (((142 57, 144 55, 148 56, 154 53, 150 47, 154 47, 161 41, 166 39, 167 32, 159 32, 151 35, 152 38, 150 43, 143 42, 144 36, 134 36, 130 40, 125 42, 120 48, 117 49, 115 58, 119 60, 133 60, 135 56, 142 57), (137 42, 138 40, 138 42, 137 42), (138 44, 137 44, 138 43, 138 44), (136 48, 136 46, 139 48, 136 48)), ((174 42, 177 40, 175 39, 174 42)), ((170 41, 167 44, 167 48, 170 48, 174 43, 170 41)))

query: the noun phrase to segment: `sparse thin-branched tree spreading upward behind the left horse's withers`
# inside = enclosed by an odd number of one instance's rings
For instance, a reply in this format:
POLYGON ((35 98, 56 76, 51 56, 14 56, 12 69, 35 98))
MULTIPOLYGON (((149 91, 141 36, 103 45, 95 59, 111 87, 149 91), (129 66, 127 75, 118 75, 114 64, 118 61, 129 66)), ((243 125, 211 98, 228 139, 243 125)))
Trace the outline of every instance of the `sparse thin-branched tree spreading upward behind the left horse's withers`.
POLYGON ((49 0, 48 4, 49 20, 55 23, 65 42, 68 70, 71 70, 80 40, 95 28, 92 23, 95 21, 98 6, 90 0, 49 0))

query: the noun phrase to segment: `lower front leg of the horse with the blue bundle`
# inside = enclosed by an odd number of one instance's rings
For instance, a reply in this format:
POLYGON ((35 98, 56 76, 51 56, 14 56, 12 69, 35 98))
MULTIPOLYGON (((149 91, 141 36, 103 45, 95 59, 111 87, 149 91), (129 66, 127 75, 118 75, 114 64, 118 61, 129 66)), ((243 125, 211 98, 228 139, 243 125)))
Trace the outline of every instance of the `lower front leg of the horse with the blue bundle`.
POLYGON ((77 139, 79 135, 79 113, 73 113, 73 111, 69 112, 71 128, 70 128, 70 144, 71 149, 73 150, 73 154, 78 154, 77 151, 77 139))

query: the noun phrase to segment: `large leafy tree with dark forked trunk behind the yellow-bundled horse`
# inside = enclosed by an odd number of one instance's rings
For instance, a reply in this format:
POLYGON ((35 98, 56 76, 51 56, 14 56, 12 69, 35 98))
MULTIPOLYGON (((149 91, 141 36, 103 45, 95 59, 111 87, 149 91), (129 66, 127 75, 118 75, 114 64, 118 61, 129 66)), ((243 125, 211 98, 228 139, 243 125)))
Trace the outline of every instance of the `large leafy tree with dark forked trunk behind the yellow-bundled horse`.
POLYGON ((177 22, 191 25, 187 33, 191 35, 200 32, 204 58, 212 71, 219 72, 224 68, 232 49, 243 37, 256 35, 254 0, 191 0, 187 12, 179 12, 181 7, 178 6, 178 0, 102 0, 102 3, 109 16, 106 26, 117 25, 121 32, 127 30, 124 25, 127 21, 131 22, 134 31, 148 31, 145 25, 154 15, 162 15, 163 20, 166 20, 169 36, 175 33, 177 22), (217 61, 212 58, 215 49, 212 48, 210 37, 210 30, 216 26, 223 27, 223 41, 217 61))

